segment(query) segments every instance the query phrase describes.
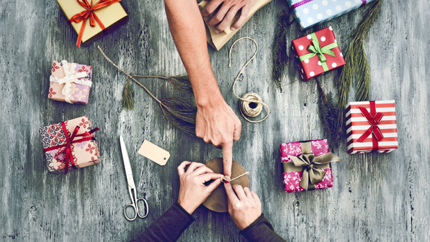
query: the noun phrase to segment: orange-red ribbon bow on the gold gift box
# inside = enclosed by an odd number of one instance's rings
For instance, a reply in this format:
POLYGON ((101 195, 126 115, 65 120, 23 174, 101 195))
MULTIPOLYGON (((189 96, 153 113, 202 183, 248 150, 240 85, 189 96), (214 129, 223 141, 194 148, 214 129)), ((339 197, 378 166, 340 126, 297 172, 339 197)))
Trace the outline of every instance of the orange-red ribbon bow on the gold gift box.
POLYGON ((85 31, 85 23, 87 21, 87 18, 89 17, 89 25, 90 26, 92 26, 92 27, 96 26, 96 21, 97 21, 100 28, 102 30, 104 30, 105 26, 100 21, 100 19, 97 17, 97 15, 94 13, 94 10, 104 8, 106 6, 110 6, 110 5, 117 3, 121 0, 109 0, 109 1, 100 0, 94 6, 92 5, 92 0, 91 0, 91 4, 89 4, 87 0, 76 0, 76 1, 78 1, 80 6, 83 6, 86 9, 86 10, 83 10, 82 12, 80 12, 76 15, 73 15, 69 19, 70 22, 74 21, 75 23, 79 23, 80 21, 82 21, 82 26, 80 26, 80 31, 79 31, 79 35, 78 35, 78 41, 76 42, 76 45, 78 47, 80 47, 80 42, 82 40, 82 36, 84 34, 84 31, 85 31))

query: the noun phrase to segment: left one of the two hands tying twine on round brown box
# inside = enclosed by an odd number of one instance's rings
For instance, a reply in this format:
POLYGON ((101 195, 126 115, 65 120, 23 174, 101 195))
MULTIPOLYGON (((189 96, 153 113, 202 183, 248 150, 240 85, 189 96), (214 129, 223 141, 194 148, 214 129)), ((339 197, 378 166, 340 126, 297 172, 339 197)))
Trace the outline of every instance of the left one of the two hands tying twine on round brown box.
POLYGON ((189 214, 205 202, 210 193, 221 184, 221 179, 218 178, 223 176, 198 162, 182 162, 178 166, 178 175, 180 180, 178 203, 189 214), (187 171, 185 166, 188 166, 187 171), (209 180, 214 181, 206 186, 205 182, 209 180))

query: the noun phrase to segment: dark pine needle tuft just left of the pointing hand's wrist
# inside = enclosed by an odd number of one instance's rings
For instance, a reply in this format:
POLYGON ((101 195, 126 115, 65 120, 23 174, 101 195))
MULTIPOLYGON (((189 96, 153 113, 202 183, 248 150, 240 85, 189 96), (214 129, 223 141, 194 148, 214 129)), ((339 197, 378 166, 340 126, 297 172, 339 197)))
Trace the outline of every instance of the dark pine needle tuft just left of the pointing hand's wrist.
POLYGON ((173 127, 187 135, 196 135, 197 107, 187 98, 164 98, 160 103, 163 114, 173 127))

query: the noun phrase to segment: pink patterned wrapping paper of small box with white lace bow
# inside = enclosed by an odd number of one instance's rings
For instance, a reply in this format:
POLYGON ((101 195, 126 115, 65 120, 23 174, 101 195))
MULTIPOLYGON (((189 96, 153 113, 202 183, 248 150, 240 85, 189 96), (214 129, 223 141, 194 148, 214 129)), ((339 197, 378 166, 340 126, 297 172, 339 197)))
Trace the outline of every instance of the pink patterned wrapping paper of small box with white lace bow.
MULTIPOLYGON (((69 66, 69 70, 75 71, 76 73, 85 72, 87 76, 83 78, 78 78, 79 80, 87 80, 92 81, 92 67, 85 64, 77 64, 77 63, 67 63, 69 66), (72 64, 76 64, 76 68, 71 70, 72 64)), ((49 84, 49 98, 55 101, 65 102, 65 95, 62 94, 63 89, 65 88, 65 83, 55 83, 53 82, 53 78, 64 78, 66 76, 65 70, 62 67, 61 62, 54 61, 51 69, 51 81, 49 84)), ((88 85, 82 85, 78 83, 71 83, 70 89, 70 101, 71 103, 81 103, 87 104, 89 98, 89 87, 88 85)))

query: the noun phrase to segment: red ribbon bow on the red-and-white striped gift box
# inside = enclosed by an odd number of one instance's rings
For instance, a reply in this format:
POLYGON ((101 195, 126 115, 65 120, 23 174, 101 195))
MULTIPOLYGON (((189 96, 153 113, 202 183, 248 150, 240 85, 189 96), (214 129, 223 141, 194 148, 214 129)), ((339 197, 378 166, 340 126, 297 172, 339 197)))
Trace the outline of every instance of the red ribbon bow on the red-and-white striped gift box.
POLYGON ((361 137, 359 137, 359 139, 357 139, 356 141, 363 142, 369 137, 369 135, 372 135, 372 151, 375 151, 379 148, 379 140, 384 138, 384 135, 382 135, 381 129, 378 126, 378 123, 381 122, 381 119, 384 114, 382 114, 381 112, 376 112, 375 101, 370 101, 370 113, 364 107, 359 107, 359 110, 361 111, 361 114, 363 114, 363 116, 368 119, 368 122, 370 123, 370 128, 368 128, 368 130, 365 130, 364 134, 361 135, 361 137))

